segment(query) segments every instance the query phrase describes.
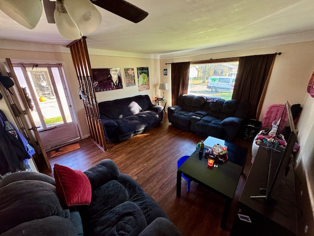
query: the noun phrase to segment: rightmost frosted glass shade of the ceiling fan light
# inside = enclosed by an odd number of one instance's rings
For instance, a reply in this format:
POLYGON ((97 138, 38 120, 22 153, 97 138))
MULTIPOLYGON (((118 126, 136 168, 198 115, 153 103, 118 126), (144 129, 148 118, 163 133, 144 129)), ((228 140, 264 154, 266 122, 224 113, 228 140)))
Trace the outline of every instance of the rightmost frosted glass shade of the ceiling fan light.
POLYGON ((95 31, 102 15, 90 0, 64 0, 64 6, 74 24, 83 33, 95 31))

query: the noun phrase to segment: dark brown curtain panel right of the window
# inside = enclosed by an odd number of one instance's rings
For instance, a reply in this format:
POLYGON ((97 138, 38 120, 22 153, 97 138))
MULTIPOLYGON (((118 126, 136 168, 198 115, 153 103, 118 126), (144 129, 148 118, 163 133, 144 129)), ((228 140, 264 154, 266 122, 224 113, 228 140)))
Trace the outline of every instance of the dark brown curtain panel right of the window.
POLYGON ((232 99, 250 102, 247 118, 256 118, 276 54, 241 57, 232 99))

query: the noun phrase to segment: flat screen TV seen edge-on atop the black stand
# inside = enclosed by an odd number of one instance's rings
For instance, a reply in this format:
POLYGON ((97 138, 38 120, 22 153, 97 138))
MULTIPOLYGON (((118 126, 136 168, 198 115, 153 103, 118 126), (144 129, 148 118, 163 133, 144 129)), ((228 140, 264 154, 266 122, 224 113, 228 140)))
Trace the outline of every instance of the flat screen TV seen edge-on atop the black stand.
MULTIPOLYGON (((288 119, 285 120, 285 124, 279 125, 278 127, 284 127, 282 130, 277 130, 276 135, 283 134, 285 136, 287 145, 286 148, 281 151, 282 155, 279 155, 280 158, 275 158, 275 155, 272 155, 273 152, 278 151, 272 148, 269 149, 270 159, 269 159, 269 171, 268 171, 268 180, 267 180, 267 189, 266 189, 266 201, 274 202, 277 201, 280 197, 280 193, 277 192, 278 186, 281 183, 282 177, 285 175, 287 167, 291 160, 291 154, 293 152, 293 147, 297 140, 297 133, 294 127, 294 122, 292 118, 292 113, 288 101, 286 102, 285 109, 283 111, 283 116, 286 116, 288 113, 288 119)), ((283 117, 282 116, 282 117, 283 117)))

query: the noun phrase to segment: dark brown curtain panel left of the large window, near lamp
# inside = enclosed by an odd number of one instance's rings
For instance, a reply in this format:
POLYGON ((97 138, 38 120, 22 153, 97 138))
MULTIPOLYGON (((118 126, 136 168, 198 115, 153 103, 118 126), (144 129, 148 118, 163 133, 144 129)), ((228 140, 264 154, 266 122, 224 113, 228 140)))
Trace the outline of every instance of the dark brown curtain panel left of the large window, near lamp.
POLYGON ((178 97, 187 94, 190 62, 171 64, 171 99, 172 106, 177 105, 178 97))

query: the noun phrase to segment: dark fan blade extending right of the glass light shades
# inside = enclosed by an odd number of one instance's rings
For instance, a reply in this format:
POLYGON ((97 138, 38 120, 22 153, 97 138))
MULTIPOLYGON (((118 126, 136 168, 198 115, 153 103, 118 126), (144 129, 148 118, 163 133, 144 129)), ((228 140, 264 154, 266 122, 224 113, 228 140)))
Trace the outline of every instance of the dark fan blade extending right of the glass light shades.
POLYGON ((97 6, 104 8, 118 16, 123 17, 133 23, 138 23, 148 16, 148 12, 134 6, 125 0, 90 0, 97 6))

